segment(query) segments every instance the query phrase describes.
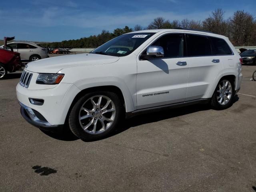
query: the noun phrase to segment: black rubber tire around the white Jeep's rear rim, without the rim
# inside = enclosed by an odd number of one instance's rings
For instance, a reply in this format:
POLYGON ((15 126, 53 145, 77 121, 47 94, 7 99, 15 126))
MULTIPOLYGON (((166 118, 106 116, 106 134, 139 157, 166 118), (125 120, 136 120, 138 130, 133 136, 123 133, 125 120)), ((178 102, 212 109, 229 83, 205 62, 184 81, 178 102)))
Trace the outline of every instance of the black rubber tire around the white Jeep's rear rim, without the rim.
POLYGON ((214 90, 214 94, 212 95, 212 99, 211 99, 211 106, 213 109, 215 110, 224 110, 224 109, 227 109, 229 108, 230 106, 232 106, 233 104, 233 97, 234 97, 234 94, 235 94, 235 90, 234 90, 234 81, 230 78, 221 78, 220 81, 218 82, 218 85, 216 86, 215 90, 214 90), (230 99, 229 101, 225 104, 225 105, 221 105, 219 102, 218 102, 218 92, 217 90, 219 90, 219 84, 223 81, 229 81, 230 84, 231 84, 231 88, 232 88, 232 93, 231 93, 231 96, 230 96, 230 99))

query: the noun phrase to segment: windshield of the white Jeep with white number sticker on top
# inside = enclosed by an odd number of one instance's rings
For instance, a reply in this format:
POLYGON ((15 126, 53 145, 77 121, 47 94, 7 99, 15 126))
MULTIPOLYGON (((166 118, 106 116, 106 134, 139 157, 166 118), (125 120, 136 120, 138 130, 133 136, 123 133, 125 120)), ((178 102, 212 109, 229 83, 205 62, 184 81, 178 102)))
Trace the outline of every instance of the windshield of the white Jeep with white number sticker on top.
POLYGON ((91 53, 111 56, 126 56, 136 50, 155 33, 130 33, 118 36, 91 53))

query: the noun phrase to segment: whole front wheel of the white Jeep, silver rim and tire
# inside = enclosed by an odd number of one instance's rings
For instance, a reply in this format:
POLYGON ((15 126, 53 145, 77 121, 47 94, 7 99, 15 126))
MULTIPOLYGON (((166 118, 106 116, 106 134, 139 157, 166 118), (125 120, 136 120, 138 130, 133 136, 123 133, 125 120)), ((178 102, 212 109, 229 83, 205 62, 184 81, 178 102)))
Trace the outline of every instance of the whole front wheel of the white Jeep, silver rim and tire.
POLYGON ((94 92, 80 98, 69 116, 70 130, 79 138, 103 138, 116 127, 121 102, 113 92, 94 92))

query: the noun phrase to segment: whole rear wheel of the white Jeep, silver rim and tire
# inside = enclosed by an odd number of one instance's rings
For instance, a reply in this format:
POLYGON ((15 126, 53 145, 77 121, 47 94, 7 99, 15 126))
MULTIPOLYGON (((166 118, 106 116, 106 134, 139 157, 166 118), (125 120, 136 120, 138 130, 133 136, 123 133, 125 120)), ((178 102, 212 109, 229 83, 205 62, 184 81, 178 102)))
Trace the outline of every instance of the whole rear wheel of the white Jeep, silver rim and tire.
POLYGON ((226 109, 232 105, 234 86, 230 80, 222 79, 212 96, 211 105, 216 109, 226 109))

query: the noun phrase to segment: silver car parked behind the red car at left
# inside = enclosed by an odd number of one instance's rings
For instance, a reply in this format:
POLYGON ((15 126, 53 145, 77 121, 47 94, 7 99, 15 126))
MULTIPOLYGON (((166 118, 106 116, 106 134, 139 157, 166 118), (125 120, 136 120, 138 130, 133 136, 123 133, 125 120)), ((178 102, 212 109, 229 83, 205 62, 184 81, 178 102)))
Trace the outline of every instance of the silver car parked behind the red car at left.
POLYGON ((7 45, 12 47, 14 51, 20 53, 22 62, 30 62, 49 57, 46 48, 40 44, 35 44, 34 42, 15 41, 8 43, 7 45))

